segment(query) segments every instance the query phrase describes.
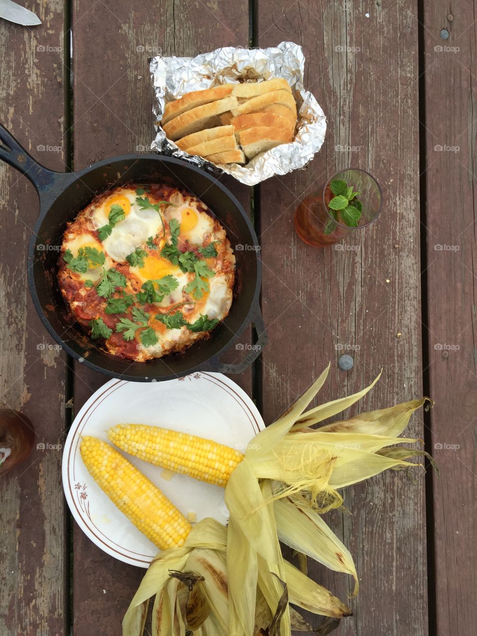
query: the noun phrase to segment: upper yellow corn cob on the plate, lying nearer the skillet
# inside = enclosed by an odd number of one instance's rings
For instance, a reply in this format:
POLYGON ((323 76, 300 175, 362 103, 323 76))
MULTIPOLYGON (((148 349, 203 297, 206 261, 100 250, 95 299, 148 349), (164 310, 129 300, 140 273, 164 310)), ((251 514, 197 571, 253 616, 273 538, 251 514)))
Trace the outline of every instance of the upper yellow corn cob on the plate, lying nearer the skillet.
POLYGON ((225 486, 244 455, 211 439, 146 424, 118 424, 107 432, 121 450, 173 473, 225 486))

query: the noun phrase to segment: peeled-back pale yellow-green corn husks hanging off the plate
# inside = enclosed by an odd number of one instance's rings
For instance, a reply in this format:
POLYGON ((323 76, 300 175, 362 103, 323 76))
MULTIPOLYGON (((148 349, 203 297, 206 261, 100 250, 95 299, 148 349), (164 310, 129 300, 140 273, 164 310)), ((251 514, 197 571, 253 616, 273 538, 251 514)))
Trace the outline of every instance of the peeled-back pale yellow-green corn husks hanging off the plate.
POLYGON ((397 445, 419 442, 399 435, 427 398, 314 429, 359 401, 379 378, 352 396, 305 410, 328 369, 247 448, 225 490, 228 529, 202 520, 183 548, 153 560, 123 621, 123 635, 142 634, 147 602, 154 595, 153 636, 183 636, 190 626, 199 636, 291 636, 288 600, 328 617, 315 633, 328 633, 350 615, 347 605, 306 574, 310 557, 352 576, 352 594, 358 591, 352 556, 321 515, 342 507, 340 491, 346 486, 387 469, 420 466, 407 460, 427 455, 424 450, 397 445), (296 550, 301 570, 283 560, 279 539, 296 550), (173 583, 170 570, 200 577, 195 614, 187 611, 194 586, 184 590, 177 579, 173 583))

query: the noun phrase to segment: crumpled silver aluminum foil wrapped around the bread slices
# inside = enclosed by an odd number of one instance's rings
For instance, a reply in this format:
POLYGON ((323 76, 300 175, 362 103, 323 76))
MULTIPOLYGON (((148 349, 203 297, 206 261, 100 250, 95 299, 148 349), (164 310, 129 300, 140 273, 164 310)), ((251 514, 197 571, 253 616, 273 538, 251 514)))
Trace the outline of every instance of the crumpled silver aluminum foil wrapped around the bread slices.
POLYGON ((156 138, 151 149, 195 163, 214 174, 226 172, 253 186, 275 174, 286 174, 303 168, 319 151, 326 132, 326 117, 312 93, 303 86, 305 57, 301 46, 282 42, 271 48, 218 48, 197 57, 153 57, 151 79, 156 95, 153 107, 156 138), (158 122, 165 102, 182 97, 192 90, 202 90, 225 83, 250 79, 280 77, 287 80, 296 100, 298 122, 294 141, 276 146, 255 156, 246 165, 232 163, 217 166, 200 156, 189 155, 167 139, 158 122))

